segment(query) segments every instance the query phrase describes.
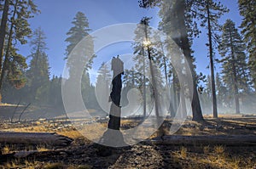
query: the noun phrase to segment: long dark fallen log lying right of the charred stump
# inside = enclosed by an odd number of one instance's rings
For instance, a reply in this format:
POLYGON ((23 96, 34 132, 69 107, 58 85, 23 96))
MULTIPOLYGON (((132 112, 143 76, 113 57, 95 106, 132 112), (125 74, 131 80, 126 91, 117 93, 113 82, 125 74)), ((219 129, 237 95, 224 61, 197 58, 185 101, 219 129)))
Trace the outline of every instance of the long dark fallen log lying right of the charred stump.
POLYGON ((163 136, 145 140, 152 144, 256 146, 256 135, 163 136))

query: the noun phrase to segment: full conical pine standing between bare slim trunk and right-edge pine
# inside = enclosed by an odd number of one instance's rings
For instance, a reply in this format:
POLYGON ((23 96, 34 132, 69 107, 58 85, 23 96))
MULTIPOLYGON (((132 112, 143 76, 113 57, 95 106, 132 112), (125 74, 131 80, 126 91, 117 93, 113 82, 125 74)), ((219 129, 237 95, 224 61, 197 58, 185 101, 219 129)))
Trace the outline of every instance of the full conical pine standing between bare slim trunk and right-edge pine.
POLYGON ((247 75, 245 75, 247 71, 246 46, 232 20, 226 20, 223 26, 218 50, 222 57, 219 62, 222 64, 223 80, 230 93, 234 93, 236 114, 239 114, 239 90, 245 88, 244 85, 248 85, 247 75))

